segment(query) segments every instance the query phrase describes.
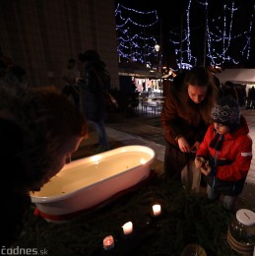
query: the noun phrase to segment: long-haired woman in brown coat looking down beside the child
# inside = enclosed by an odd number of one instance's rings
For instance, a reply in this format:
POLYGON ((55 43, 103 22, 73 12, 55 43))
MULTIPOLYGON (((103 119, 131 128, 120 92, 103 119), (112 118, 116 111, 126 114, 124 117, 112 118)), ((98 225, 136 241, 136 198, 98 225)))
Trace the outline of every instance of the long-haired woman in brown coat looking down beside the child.
POLYGON ((213 75, 203 67, 180 73, 169 86, 161 112, 166 178, 180 179, 183 167, 194 160, 218 94, 213 75))

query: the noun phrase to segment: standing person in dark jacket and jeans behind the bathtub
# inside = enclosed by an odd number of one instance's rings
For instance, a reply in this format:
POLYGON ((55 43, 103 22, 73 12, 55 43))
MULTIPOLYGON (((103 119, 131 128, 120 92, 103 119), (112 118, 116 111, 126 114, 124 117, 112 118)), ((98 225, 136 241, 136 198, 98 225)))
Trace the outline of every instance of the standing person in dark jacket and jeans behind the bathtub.
POLYGON ((81 110, 91 121, 98 134, 99 152, 110 149, 104 120, 106 118, 106 102, 103 93, 110 89, 110 75, 105 70, 105 64, 100 60, 95 50, 87 50, 79 55, 79 59, 85 63, 83 83, 81 86, 81 110))

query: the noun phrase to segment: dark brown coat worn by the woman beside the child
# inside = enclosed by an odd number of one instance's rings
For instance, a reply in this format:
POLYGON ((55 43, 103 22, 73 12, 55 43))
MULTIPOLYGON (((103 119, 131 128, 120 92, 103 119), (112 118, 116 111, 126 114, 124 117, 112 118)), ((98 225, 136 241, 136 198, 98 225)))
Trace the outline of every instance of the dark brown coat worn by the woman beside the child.
POLYGON ((207 98, 199 104, 194 103, 187 96, 183 79, 184 76, 176 77, 174 83, 168 87, 161 111, 165 141, 176 148, 178 145, 175 138, 179 135, 185 137, 191 146, 196 141, 202 142, 211 122, 211 112, 205 110, 207 98))

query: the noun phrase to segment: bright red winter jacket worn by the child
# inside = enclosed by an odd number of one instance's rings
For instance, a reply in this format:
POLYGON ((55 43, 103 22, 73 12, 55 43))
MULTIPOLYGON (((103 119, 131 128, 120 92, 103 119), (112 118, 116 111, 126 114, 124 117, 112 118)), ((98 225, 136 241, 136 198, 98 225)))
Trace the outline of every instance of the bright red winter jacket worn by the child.
POLYGON ((216 136, 214 124, 207 130, 205 138, 201 143, 196 157, 203 157, 210 160, 213 172, 218 179, 234 182, 245 179, 252 159, 252 140, 248 135, 249 128, 243 116, 241 116, 240 126, 233 133, 224 135, 223 147, 220 151, 210 148, 210 143, 216 136), (213 160, 213 161, 212 161, 213 160), (229 161, 226 165, 218 162, 229 161))

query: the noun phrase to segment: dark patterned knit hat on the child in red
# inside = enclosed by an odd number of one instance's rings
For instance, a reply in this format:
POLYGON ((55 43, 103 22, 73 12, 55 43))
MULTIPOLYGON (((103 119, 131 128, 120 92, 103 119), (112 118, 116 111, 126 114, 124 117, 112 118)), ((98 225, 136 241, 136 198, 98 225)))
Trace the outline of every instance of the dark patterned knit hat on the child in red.
POLYGON ((223 97, 212 109, 212 120, 227 126, 231 131, 240 124, 240 106, 232 97, 223 97))

